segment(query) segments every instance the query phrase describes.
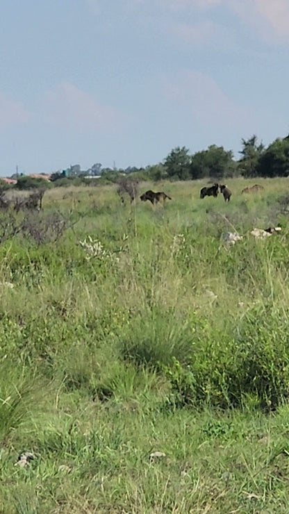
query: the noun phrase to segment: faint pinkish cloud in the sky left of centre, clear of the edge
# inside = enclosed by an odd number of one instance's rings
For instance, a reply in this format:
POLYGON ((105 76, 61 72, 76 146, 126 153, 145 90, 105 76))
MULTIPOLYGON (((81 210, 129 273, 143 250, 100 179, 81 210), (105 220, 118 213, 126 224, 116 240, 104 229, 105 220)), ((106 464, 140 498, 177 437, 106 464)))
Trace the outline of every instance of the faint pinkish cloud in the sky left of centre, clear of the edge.
POLYGON ((69 82, 44 94, 44 119, 58 126, 101 132, 118 131, 124 124, 121 113, 69 82))

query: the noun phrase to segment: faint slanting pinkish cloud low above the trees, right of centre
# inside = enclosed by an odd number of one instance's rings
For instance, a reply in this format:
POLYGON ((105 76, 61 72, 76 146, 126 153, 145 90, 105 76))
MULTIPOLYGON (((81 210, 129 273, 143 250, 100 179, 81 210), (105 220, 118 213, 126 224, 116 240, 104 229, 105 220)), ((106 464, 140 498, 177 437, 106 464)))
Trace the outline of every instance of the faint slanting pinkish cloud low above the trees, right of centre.
POLYGON ((185 108, 192 121, 204 126, 229 128, 245 121, 246 113, 222 92, 210 76, 188 71, 163 83, 170 104, 185 108))

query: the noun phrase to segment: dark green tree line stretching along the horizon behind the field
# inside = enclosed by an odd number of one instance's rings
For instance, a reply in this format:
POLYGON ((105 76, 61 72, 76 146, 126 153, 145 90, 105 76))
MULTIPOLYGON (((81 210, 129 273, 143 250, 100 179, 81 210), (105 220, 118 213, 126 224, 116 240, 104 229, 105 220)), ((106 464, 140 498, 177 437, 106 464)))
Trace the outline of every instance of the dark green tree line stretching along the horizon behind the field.
MULTIPOLYGON (((242 139, 240 158, 235 159, 233 151, 225 150, 211 144, 206 150, 190 154, 186 147, 176 147, 163 159, 162 163, 147 167, 129 166, 126 169, 103 168, 96 163, 88 170, 81 170, 80 165, 72 165, 62 172, 54 172, 50 177, 50 185, 80 185, 81 183, 119 183, 122 176, 130 176, 139 180, 196 180, 218 179, 244 176, 276 177, 289 175, 289 135, 277 138, 266 148, 258 141, 256 135, 247 140, 242 139), (99 180, 92 181, 89 179, 99 180)), ((16 178, 16 177, 12 177, 16 178)), ((30 176, 21 176, 16 188, 49 187, 49 183, 30 176), (41 183, 41 184, 40 184, 41 183), (45 184, 44 184, 45 183, 45 184)), ((3 185, 4 187, 4 185, 3 185)))

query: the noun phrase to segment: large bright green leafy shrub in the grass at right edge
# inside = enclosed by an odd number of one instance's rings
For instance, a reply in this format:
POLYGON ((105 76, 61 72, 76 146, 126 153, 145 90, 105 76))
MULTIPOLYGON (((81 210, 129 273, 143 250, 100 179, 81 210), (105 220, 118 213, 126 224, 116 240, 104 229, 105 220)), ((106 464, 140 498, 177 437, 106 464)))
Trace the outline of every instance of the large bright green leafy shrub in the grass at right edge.
POLYGON ((179 406, 240 407, 247 398, 276 408, 289 397, 288 320, 263 309, 244 318, 237 334, 209 334, 186 366, 173 359, 163 367, 179 406))

